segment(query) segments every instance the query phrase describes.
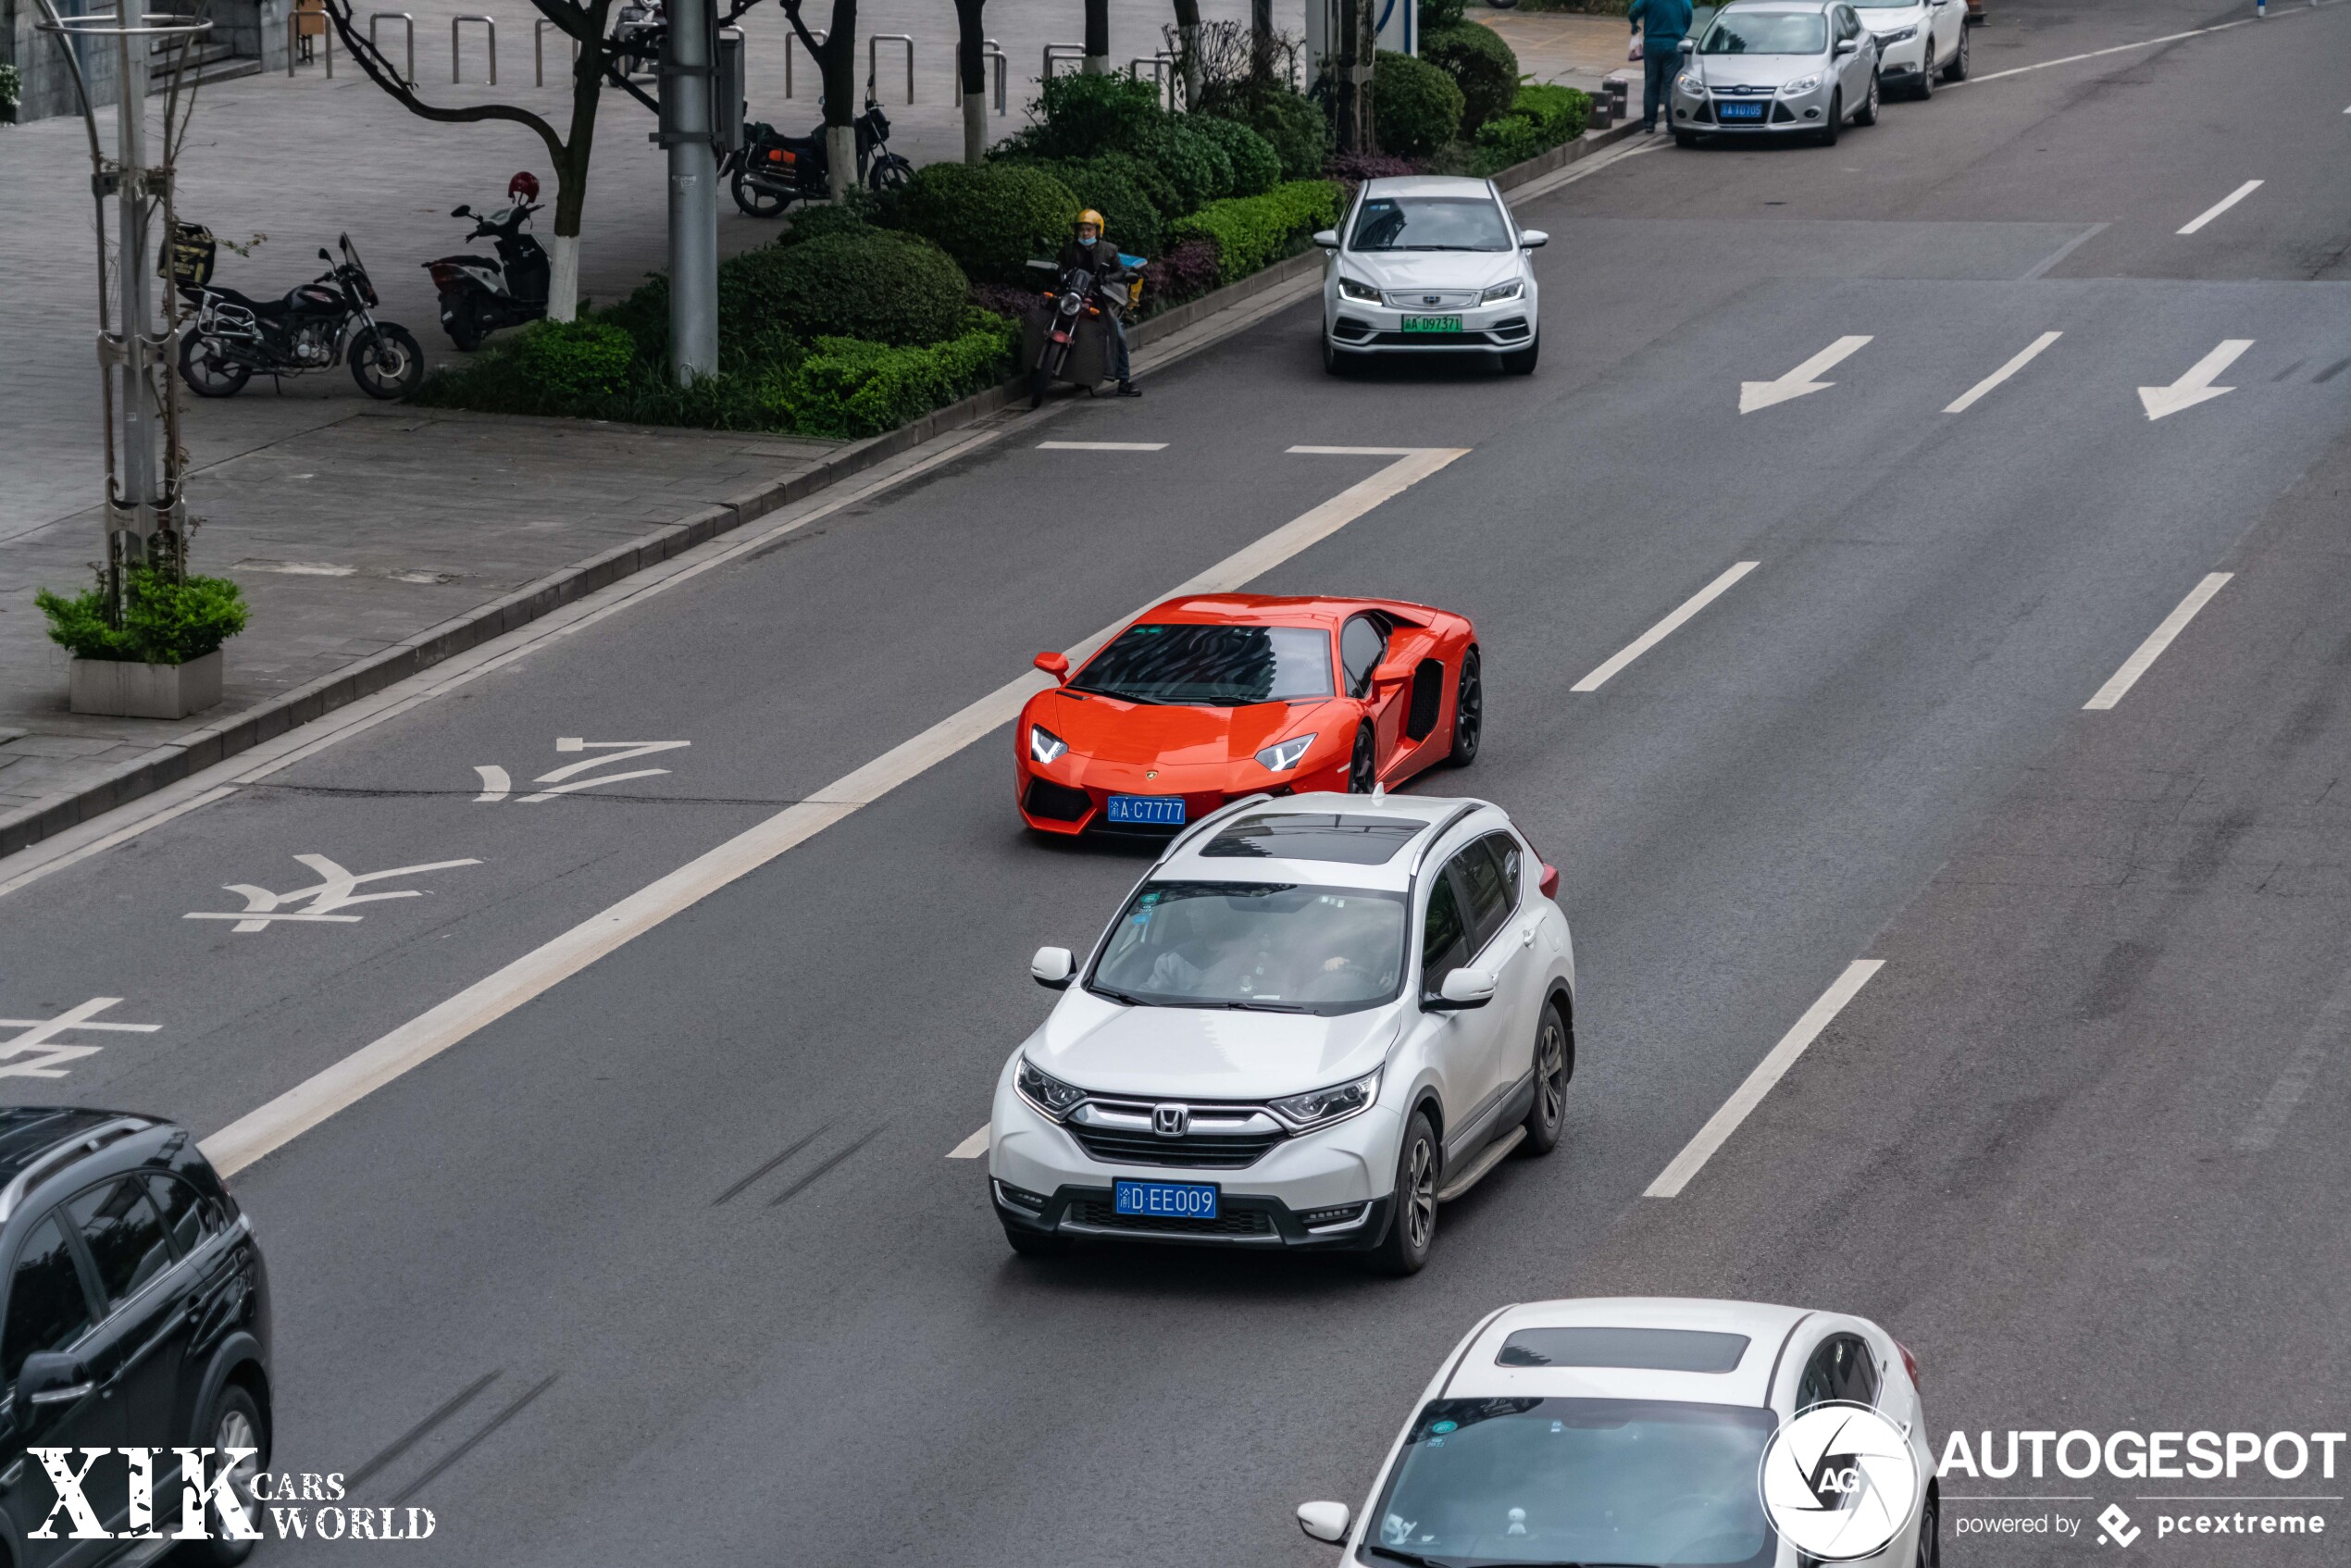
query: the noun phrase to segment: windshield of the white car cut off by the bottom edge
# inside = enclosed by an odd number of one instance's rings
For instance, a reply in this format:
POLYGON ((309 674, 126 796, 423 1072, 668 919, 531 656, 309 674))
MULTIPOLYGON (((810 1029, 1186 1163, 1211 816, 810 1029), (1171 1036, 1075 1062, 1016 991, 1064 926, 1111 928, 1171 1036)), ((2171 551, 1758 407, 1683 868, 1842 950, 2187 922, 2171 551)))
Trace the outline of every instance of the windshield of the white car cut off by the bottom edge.
POLYGON ((1756 1472, 1773 1425, 1749 1406, 1436 1399, 1413 1420, 1366 1547, 1444 1568, 1763 1568, 1777 1542, 1756 1472))

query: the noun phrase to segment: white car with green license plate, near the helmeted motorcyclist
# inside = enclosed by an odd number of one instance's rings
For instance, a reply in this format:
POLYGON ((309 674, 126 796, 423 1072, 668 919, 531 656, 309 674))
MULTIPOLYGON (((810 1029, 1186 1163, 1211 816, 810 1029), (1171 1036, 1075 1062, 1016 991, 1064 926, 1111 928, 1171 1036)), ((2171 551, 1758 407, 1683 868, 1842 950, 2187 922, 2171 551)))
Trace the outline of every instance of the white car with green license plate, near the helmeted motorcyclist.
POLYGON ((1324 247, 1324 369, 1373 355, 1481 353, 1514 376, 1542 350, 1535 263, 1491 179, 1368 179, 1324 247))

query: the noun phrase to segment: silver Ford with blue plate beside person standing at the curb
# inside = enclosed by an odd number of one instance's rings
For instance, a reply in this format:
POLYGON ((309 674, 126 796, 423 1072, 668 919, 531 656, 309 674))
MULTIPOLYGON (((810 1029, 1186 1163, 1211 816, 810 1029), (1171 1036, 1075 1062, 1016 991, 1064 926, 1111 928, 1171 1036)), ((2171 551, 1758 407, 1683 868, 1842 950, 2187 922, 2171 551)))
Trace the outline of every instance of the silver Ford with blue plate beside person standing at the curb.
POLYGON ((1803 134, 1831 146, 1878 122, 1878 40, 1848 0, 1737 0, 1681 45, 1674 141, 1803 134))

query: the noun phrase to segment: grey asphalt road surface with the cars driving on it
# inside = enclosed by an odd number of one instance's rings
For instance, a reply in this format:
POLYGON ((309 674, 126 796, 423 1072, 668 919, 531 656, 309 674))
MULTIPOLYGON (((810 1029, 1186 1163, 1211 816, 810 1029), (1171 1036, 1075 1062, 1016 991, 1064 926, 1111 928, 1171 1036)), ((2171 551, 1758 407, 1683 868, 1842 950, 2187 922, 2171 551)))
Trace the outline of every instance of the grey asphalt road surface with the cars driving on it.
MULTIPOLYGON (((1641 150, 1531 200, 1533 381, 1326 381, 1291 313, 16 886, 0 1011, 160 1027, 59 1034, 99 1051, 21 1051, 63 1077, 7 1088, 214 1133, 1392 461, 1291 447, 1460 447, 1258 578, 1474 616, 1486 750, 1420 790, 1502 802, 1563 870, 1568 1143, 1451 1206, 1425 1274, 1004 1251, 945 1154, 1046 1011, 1027 954, 1140 860, 1023 837, 994 729, 235 1178, 275 1467, 433 1507, 418 1563, 1305 1566, 1288 1509, 1361 1497, 1476 1314, 1594 1291, 1878 1316, 1937 1429, 2339 1429, 2351 7, 1998 75, 2215 21, 2001 5, 1984 80, 1834 150, 1641 150), (1853 336, 1834 386, 1740 414, 1853 336), (2146 418, 2231 341, 2231 393, 2146 418), (595 755, 567 736, 691 745, 520 799, 595 755), (212 919, 317 882, 294 856, 433 870, 355 919, 212 919)), ((2156 1507, 2034 1507, 2109 1500, 2156 1507)))

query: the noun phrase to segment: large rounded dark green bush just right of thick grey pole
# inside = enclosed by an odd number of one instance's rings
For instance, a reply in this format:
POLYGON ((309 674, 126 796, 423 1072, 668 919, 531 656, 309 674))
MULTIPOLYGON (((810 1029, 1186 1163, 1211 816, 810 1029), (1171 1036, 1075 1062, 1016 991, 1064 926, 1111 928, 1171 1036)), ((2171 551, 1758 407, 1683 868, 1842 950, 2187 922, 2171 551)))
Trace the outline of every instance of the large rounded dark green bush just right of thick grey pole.
POLYGON ((964 268, 929 240, 837 228, 731 256, 719 268, 719 329, 743 343, 769 331, 938 343, 962 324, 969 292, 964 268))

